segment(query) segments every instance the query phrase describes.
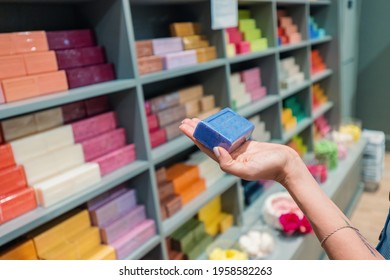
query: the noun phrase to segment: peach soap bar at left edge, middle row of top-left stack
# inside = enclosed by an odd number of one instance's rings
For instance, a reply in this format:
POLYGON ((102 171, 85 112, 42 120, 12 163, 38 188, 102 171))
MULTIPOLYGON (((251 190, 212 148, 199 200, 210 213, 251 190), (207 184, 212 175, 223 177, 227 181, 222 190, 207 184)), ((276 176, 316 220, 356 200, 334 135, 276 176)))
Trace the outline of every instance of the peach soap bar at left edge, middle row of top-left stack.
POLYGON ((22 55, 0 57, 0 80, 26 75, 27 71, 22 55))

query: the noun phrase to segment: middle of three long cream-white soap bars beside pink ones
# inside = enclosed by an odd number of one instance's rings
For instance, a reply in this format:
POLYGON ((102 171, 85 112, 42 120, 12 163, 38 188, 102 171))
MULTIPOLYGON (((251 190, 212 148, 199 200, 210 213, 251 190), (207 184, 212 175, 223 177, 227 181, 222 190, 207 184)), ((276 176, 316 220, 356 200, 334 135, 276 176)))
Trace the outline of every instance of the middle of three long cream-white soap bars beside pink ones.
POLYGON ((84 163, 81 145, 70 145, 23 163, 29 185, 34 185, 84 163))

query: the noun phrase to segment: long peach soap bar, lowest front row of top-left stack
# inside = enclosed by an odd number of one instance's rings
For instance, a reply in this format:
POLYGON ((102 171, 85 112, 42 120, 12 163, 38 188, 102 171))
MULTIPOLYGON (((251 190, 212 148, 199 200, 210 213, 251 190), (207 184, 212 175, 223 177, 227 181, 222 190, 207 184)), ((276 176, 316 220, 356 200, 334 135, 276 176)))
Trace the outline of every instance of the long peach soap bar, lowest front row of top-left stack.
POLYGON ((2 81, 6 102, 28 99, 68 89, 65 71, 50 72, 2 81))

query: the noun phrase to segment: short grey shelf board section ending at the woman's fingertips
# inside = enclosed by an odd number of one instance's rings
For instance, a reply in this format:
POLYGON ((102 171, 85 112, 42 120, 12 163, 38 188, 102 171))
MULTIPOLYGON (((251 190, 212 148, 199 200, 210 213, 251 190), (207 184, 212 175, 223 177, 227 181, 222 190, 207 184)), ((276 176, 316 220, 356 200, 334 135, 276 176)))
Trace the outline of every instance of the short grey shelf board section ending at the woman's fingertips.
POLYGON ((179 136, 152 150, 153 163, 159 164, 160 162, 192 147, 193 145, 194 143, 187 136, 179 136))

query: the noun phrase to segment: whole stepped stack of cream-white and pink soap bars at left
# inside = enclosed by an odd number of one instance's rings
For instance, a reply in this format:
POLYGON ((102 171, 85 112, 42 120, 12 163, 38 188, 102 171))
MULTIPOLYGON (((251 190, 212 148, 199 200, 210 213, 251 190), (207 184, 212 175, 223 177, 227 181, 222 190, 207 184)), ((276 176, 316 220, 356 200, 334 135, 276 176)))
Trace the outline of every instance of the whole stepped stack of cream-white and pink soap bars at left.
POLYGON ((9 147, 23 166, 41 206, 92 187, 101 176, 135 160, 134 144, 126 145, 115 112, 107 110, 102 96, 1 122, 9 142, 2 147, 9 147))

